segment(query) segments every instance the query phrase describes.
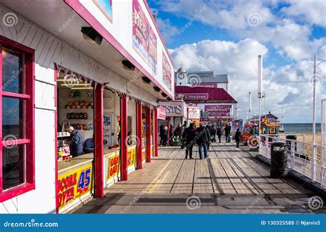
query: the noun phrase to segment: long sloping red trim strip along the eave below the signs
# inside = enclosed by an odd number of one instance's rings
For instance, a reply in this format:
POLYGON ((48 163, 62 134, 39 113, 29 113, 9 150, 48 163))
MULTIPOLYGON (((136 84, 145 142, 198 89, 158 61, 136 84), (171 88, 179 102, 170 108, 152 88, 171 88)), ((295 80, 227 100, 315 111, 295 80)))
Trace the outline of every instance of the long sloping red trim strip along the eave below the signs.
MULTIPOLYGON (((135 60, 135 58, 133 58, 133 56, 131 56, 131 54, 129 53, 129 51, 127 51, 127 49, 125 49, 119 42, 118 40, 116 40, 116 38, 114 38, 106 29, 105 27, 103 27, 100 22, 98 22, 98 20, 96 19, 95 16, 93 16, 88 10, 86 10, 83 6, 82 3, 80 3, 78 0, 64 0, 65 3, 67 3, 67 5, 70 6, 70 8, 72 8, 72 10, 74 10, 77 14, 80 15, 80 17, 82 17, 87 23, 89 23, 89 25, 91 25, 91 27, 94 27, 94 29, 101 35, 103 36, 103 38, 105 38, 105 40, 107 40, 115 49, 117 49, 120 54, 122 54, 122 56, 124 56, 125 58, 127 58, 127 60, 129 60, 133 65, 135 65, 135 67, 137 67, 137 69, 139 69, 144 76, 148 77, 156 86, 158 86, 160 89, 162 90, 166 90, 168 91, 168 87, 167 86, 162 86, 162 84, 160 84, 159 82, 157 82, 157 80, 151 75, 151 73, 149 73, 148 71, 146 71, 146 69, 144 69, 144 67, 142 67, 142 65, 140 65, 140 62, 138 62, 137 60, 135 60), (83 10, 81 10, 83 9, 83 10)), ((169 54, 169 52, 167 52, 167 54, 169 54)), ((173 64, 172 60, 170 60, 171 63, 173 64)), ((174 73, 172 73, 172 75, 174 75, 174 73)), ((173 85, 174 88, 174 85, 173 85)), ((169 97, 171 97, 172 100, 175 100, 175 96, 171 95, 170 93, 166 93, 166 95, 168 95, 169 97)))

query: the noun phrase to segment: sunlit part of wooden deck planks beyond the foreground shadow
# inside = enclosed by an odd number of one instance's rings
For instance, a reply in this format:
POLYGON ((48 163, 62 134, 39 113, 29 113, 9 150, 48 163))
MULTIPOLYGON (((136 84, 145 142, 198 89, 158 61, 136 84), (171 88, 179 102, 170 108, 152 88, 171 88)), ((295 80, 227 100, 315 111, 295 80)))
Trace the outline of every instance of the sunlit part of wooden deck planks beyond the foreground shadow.
POLYGON ((246 150, 232 143, 213 143, 209 158, 200 160, 197 146, 193 158, 184 159, 180 147, 161 147, 159 156, 144 163, 143 170, 129 174, 106 189, 124 194, 307 194, 307 190, 286 179, 269 177, 269 170, 246 150))

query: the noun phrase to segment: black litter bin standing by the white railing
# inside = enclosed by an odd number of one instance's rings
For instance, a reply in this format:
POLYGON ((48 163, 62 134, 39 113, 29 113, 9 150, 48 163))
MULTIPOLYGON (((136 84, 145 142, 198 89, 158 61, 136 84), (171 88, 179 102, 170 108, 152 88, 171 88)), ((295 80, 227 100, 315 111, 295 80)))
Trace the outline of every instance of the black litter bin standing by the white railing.
POLYGON ((270 147, 270 177, 281 178, 287 175, 287 146, 282 142, 270 147))

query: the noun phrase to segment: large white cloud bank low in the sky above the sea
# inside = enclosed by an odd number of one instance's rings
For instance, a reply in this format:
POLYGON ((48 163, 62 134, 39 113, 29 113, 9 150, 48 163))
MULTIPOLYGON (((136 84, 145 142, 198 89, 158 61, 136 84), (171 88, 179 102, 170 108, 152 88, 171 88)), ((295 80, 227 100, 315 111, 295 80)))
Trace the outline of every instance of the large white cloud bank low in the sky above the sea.
MULTIPOLYGON (((241 114, 248 111, 248 92, 252 96, 253 111, 258 113, 257 55, 268 56, 268 48, 257 40, 245 39, 239 43, 221 40, 202 40, 170 50, 175 64, 184 63, 188 70, 227 73, 231 95, 239 102, 241 114)), ((323 64, 325 65, 325 64, 323 64)), ((318 67, 319 80, 325 79, 325 66, 318 67), (323 68, 324 67, 324 68, 323 68)), ((268 111, 281 115, 285 107, 285 121, 309 122, 312 112, 312 73, 313 62, 298 61, 292 65, 265 67, 263 89, 267 95, 268 111)), ((324 83, 325 84, 325 83, 324 83)), ((325 88, 317 86, 317 103, 320 104, 325 88)), ((320 117, 320 108, 318 113, 320 117)))

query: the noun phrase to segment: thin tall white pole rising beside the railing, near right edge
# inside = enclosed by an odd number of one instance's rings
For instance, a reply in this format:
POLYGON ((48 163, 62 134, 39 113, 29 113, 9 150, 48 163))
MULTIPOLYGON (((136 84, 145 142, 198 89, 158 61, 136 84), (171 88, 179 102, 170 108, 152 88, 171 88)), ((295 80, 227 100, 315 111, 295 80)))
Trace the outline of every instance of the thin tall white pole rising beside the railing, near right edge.
POLYGON ((313 144, 313 156, 312 156, 312 182, 316 179, 316 161, 317 161, 317 144, 316 144, 316 60, 317 55, 314 54, 314 82, 312 91, 312 144, 313 144))

